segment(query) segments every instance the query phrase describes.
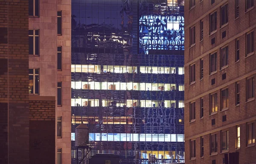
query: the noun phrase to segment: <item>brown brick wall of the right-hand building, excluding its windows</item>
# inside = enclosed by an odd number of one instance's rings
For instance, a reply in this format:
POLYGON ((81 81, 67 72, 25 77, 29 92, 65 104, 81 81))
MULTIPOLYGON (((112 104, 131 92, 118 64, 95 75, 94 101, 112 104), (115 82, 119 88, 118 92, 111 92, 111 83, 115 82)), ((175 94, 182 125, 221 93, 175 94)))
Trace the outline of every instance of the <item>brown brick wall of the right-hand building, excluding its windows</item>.
MULTIPOLYGON (((235 0, 210 1, 195 0, 195 7, 189 9, 189 0, 185 0, 185 160, 189 164, 205 164, 216 160, 216 164, 222 164, 224 153, 221 153, 221 130, 229 130, 229 150, 227 153, 239 152, 239 162, 253 163, 253 153, 256 147, 246 145, 246 122, 255 122, 256 100, 246 102, 246 78, 256 75, 256 56, 245 57, 246 33, 250 30, 256 32, 255 6, 250 11, 245 11, 245 1, 239 0, 239 18, 235 19, 235 0), (228 3, 228 23, 224 27, 220 25, 220 8, 228 3), (209 34, 209 14, 217 11, 217 30, 209 34), (200 20, 204 22, 204 40, 200 41, 200 20), (189 28, 195 25, 195 45, 189 45, 189 28), (222 32, 226 31, 226 37, 222 38, 222 32), (211 40, 215 37, 215 43, 211 40), (235 62, 235 40, 240 40, 240 60, 235 62), (227 46, 228 66, 220 68, 220 49, 227 46), (217 52, 217 71, 209 72, 209 54, 217 52), (200 80, 200 59, 204 60, 204 78, 200 80), (189 83, 189 66, 195 63, 195 83, 189 83), (222 80, 222 74, 226 73, 226 79, 222 80), (215 79, 215 84, 211 80, 215 79), (240 105, 235 105, 235 83, 240 83, 240 105), (228 110, 221 111, 221 89, 229 90, 228 110), (209 94, 218 94, 218 112, 214 115, 209 113, 209 94), (200 119, 200 98, 204 99, 204 117, 200 119), (196 119, 189 122, 189 102, 196 103, 196 119), (227 121, 222 121, 222 116, 227 121), (215 125, 212 125, 215 119, 215 125), (241 148, 236 150, 236 125, 240 125, 241 148), (210 155, 210 133, 217 133, 218 155, 210 155), (204 158, 200 158, 200 137, 204 137, 204 158), (189 140, 196 139, 196 159, 190 160, 189 140)), ((254 50, 256 49, 256 37, 254 37, 254 50)), ((256 84, 254 85, 256 87, 256 84)), ((254 92, 255 92, 254 88, 254 92)), ((254 128, 256 130, 256 128, 254 128)))

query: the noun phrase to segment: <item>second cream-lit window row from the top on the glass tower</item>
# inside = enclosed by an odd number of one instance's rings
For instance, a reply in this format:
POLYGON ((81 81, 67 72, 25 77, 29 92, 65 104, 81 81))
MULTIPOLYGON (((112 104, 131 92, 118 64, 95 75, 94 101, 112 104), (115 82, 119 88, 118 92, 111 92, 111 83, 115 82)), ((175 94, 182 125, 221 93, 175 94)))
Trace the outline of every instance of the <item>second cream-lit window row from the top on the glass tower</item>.
MULTIPOLYGON (((138 83, 138 82, 71 82, 73 89, 85 90, 176 90, 176 84, 163 83, 138 83)), ((183 91, 184 85, 178 85, 178 90, 183 91)))

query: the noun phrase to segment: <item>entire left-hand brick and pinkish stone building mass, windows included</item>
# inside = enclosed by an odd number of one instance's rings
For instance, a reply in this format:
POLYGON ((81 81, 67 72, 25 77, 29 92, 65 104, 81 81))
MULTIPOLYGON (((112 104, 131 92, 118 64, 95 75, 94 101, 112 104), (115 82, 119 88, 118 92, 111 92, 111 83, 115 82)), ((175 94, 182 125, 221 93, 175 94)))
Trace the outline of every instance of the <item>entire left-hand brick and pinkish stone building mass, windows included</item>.
POLYGON ((71 0, 0 2, 0 163, 71 162, 70 18, 71 0))

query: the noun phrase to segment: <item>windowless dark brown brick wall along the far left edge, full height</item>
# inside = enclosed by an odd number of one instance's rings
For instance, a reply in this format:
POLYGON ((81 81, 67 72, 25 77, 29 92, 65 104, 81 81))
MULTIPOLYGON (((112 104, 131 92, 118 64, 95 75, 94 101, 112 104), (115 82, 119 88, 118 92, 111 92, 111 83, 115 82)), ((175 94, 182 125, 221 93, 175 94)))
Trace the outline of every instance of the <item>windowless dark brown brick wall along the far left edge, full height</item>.
POLYGON ((3 145, 0 163, 3 164, 29 163, 28 47, 28 0, 0 1, 0 144, 3 145))

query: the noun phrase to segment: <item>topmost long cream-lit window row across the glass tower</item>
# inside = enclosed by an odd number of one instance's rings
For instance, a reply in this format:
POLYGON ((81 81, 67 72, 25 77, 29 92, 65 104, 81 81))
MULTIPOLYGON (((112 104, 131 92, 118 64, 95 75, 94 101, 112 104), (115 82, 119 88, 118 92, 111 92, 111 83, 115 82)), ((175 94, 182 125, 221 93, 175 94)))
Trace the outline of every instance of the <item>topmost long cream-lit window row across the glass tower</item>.
MULTIPOLYGON (((154 66, 140 66, 141 74, 184 74, 184 68, 178 67, 154 67, 154 66)), ((126 65, 71 65, 71 72, 84 72, 84 73, 128 73, 137 74, 137 66, 126 65)))

